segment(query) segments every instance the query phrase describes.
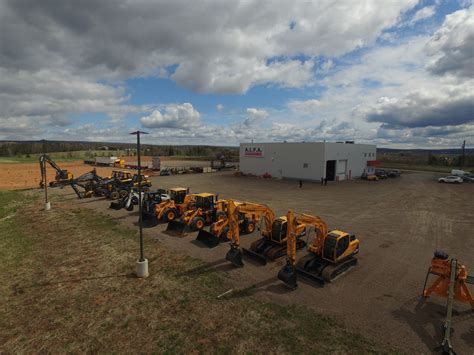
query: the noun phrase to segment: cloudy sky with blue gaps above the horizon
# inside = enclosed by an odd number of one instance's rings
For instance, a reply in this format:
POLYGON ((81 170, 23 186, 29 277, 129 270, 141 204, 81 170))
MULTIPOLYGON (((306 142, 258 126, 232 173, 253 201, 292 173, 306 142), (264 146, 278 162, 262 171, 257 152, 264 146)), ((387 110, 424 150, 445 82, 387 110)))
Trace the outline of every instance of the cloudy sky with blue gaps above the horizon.
POLYGON ((474 146, 468 0, 0 0, 0 139, 474 146))

